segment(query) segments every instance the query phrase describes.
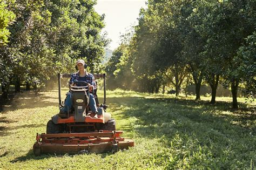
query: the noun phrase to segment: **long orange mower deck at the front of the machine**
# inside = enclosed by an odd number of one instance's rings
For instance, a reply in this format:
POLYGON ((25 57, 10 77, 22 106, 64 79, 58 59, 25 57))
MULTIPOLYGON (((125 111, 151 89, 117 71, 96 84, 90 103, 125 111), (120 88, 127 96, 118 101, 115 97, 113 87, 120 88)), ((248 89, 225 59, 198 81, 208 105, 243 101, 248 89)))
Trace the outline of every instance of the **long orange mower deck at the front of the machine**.
POLYGON ((78 154, 115 153, 118 149, 134 146, 131 139, 120 137, 123 131, 100 131, 92 133, 37 134, 33 145, 35 155, 40 154, 78 154))

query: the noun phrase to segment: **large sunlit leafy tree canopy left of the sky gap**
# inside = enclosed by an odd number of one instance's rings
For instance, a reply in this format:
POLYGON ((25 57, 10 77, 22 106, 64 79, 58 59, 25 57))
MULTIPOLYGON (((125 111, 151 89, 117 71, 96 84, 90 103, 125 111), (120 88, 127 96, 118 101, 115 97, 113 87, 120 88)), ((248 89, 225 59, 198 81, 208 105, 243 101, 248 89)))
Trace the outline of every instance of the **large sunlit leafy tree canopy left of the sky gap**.
POLYGON ((18 1, 7 2, 15 13, 10 42, 0 47, 5 63, 1 74, 2 88, 21 82, 27 87, 45 82, 57 72, 71 72, 78 58, 94 63, 102 60, 108 40, 100 35, 104 16, 93 9, 95 1, 18 1))

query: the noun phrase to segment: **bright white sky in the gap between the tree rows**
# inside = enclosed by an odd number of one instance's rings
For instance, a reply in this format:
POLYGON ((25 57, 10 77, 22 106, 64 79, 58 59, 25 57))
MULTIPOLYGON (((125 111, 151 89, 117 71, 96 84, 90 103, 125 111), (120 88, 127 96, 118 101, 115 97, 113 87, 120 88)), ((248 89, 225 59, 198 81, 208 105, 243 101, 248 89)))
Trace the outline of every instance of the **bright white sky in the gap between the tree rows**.
POLYGON ((98 0, 95 6, 99 15, 105 13, 105 28, 107 38, 112 39, 107 49, 118 47, 120 35, 131 25, 137 25, 140 8, 146 8, 146 0, 98 0))

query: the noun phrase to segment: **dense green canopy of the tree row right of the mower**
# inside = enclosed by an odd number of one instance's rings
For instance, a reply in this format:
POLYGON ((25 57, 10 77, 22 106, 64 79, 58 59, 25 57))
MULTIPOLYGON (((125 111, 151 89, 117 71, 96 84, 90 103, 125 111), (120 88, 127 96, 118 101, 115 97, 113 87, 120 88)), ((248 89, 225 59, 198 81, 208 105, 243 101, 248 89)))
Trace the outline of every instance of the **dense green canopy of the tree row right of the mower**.
MULTIPOLYGON (((200 99, 200 86, 205 82, 211 86, 214 104, 221 83, 231 87, 233 107, 237 108, 239 84, 245 85, 247 92, 255 87, 255 76, 251 80, 242 76, 255 75, 255 57, 250 57, 254 47, 248 45, 255 33, 255 6, 252 0, 148 1, 148 8, 140 10, 139 23, 126 47, 131 82, 139 80, 138 90, 143 92, 158 92, 160 86, 164 89, 171 84, 178 96, 192 75, 196 99, 200 99), (252 64, 245 64, 245 58, 252 64)), ((121 62, 122 57, 116 63, 121 62)), ((114 70, 118 68, 112 69, 118 77, 120 71, 114 70)))

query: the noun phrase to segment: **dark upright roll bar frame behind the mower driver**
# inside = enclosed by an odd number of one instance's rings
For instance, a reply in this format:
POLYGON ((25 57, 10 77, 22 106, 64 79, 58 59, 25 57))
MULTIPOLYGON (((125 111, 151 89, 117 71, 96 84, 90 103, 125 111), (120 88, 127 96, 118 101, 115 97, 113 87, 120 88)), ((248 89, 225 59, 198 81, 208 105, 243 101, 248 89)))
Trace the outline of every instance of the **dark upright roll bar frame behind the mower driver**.
MULTIPOLYGON (((93 76, 95 77, 95 79, 103 78, 103 82, 104 82, 104 101, 103 101, 103 105, 105 105, 106 104, 106 73, 93 74, 93 76)), ((71 74, 60 74, 60 73, 58 73, 59 107, 63 107, 62 99, 61 99, 61 96, 60 96, 60 78, 70 78, 70 77, 71 77, 71 74)))

